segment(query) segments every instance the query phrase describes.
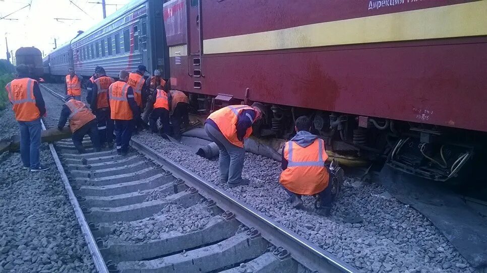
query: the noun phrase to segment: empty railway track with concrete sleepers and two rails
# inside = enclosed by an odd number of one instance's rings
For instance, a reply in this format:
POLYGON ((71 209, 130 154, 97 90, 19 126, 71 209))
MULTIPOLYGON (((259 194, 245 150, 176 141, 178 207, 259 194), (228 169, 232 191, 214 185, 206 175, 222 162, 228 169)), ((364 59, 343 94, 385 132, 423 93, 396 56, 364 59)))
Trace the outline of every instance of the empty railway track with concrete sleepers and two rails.
MULTIPOLYGON (((42 86, 57 125, 62 96, 42 86)), ((50 145, 99 272, 353 272, 147 146, 79 155, 50 145)))

